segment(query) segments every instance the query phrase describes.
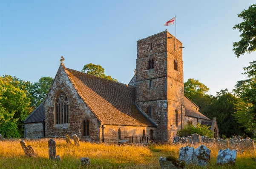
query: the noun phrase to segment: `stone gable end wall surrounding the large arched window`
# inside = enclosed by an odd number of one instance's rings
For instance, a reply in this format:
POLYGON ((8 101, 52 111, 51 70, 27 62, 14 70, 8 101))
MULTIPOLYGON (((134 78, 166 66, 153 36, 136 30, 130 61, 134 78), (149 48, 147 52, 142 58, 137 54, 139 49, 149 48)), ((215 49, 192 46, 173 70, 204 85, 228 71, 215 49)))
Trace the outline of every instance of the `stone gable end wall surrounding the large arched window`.
POLYGON ((89 140, 100 141, 100 122, 78 95, 71 81, 60 65, 54 83, 46 97, 45 104, 46 136, 70 136, 76 134, 82 139, 83 120, 89 120, 89 140), (69 100, 69 123, 55 123, 55 98, 63 91, 69 100))

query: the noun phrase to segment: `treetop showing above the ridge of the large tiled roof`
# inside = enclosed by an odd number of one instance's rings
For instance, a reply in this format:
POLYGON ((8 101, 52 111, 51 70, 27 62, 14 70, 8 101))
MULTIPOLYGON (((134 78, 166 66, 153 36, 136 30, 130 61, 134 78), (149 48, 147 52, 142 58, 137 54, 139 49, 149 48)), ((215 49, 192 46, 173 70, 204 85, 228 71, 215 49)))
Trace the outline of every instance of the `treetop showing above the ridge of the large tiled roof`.
POLYGON ((105 69, 101 65, 86 64, 83 66, 82 72, 117 82, 115 78, 105 75, 105 69))

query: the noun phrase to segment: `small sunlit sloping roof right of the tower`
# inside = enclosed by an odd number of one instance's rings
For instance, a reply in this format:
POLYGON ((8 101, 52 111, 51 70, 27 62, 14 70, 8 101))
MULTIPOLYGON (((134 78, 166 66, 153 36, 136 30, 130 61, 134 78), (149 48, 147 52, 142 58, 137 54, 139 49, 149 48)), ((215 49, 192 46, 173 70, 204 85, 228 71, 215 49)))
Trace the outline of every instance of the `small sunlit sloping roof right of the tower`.
POLYGON ((193 103, 187 96, 184 95, 184 105, 185 105, 185 116, 195 117, 199 119, 210 120, 195 108, 199 108, 195 103, 193 103), (195 107, 195 108, 193 108, 195 107))

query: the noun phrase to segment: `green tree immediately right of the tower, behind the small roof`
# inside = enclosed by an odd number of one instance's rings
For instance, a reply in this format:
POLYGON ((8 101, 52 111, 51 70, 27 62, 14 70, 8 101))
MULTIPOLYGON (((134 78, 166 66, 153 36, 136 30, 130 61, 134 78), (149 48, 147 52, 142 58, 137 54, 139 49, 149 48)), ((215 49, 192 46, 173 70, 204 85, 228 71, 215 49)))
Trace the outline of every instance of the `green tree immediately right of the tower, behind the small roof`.
POLYGON ((212 96, 207 94, 209 88, 199 80, 188 79, 184 83, 184 94, 199 106, 200 112, 207 116, 212 96))

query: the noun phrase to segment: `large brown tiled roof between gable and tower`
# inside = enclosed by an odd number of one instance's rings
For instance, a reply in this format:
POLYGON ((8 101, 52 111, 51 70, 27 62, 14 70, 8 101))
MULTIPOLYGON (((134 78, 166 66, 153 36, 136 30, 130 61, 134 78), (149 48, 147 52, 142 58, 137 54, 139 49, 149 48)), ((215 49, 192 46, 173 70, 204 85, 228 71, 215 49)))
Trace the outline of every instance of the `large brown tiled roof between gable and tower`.
POLYGON ((78 94, 106 125, 156 126, 135 105, 135 88, 63 66, 78 94))

